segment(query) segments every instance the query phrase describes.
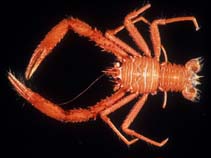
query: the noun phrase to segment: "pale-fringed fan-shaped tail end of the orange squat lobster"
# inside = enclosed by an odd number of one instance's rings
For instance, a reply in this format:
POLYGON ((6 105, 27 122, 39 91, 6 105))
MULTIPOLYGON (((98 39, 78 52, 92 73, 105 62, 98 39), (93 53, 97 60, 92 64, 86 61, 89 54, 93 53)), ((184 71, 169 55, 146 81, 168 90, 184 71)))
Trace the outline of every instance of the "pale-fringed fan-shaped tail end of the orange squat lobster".
POLYGON ((185 64, 185 68, 189 73, 187 87, 182 91, 182 95, 191 101, 198 101, 200 99, 199 90, 196 88, 200 84, 199 79, 202 76, 197 75, 202 69, 203 58, 194 58, 185 64))

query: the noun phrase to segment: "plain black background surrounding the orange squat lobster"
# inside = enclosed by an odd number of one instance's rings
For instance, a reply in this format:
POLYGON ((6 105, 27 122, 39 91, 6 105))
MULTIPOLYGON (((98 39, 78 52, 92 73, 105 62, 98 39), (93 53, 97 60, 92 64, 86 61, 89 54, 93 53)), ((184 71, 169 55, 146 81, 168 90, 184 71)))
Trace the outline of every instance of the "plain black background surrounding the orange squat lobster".
MULTIPOLYGON (((102 32, 122 24, 127 13, 140 8, 140 0, 128 1, 7 1, 1 7, 0 81, 3 138, 1 150, 6 157, 112 157, 112 158, 182 158, 207 157, 210 142, 209 57, 210 19, 207 1, 151 0, 152 7, 144 14, 156 18, 194 15, 201 29, 195 32, 192 23, 176 23, 160 27, 161 37, 170 62, 184 64, 194 57, 204 58, 200 75, 201 100, 185 100, 181 94, 169 93, 163 110, 162 94, 150 96, 133 129, 161 141, 169 137, 162 148, 143 141, 128 147, 101 120, 80 124, 61 123, 41 114, 25 102, 10 86, 7 71, 21 80, 30 56, 44 35, 63 18, 73 16, 97 27, 102 32), (2 84, 3 83, 3 84, 2 84)), ((138 25, 149 42, 145 25, 138 25)), ((127 32, 120 37, 134 46, 127 32)), ((115 58, 74 33, 68 33, 25 84, 55 103, 73 98, 112 66, 115 58)), ((87 107, 112 93, 113 84, 102 78, 87 93, 64 108, 87 107)), ((134 102, 111 114, 119 127, 134 102)), ((209 157, 209 156, 208 156, 209 157)))

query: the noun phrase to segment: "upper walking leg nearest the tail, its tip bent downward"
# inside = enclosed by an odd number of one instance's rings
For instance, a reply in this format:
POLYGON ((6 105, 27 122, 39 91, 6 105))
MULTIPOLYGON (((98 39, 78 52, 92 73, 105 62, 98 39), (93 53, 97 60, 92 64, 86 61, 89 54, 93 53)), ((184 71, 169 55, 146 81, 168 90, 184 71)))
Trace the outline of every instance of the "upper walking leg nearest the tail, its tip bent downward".
POLYGON ((195 17, 177 17, 177 18, 170 18, 170 19, 157 19, 154 20, 150 27, 151 32, 151 40, 153 44, 153 50, 155 53, 155 58, 159 61, 160 60, 160 49, 161 49, 161 39, 160 39, 160 33, 158 29, 158 25, 166 25, 169 23, 174 22, 181 22, 181 21, 192 21, 196 30, 199 30, 199 25, 196 21, 195 17))

